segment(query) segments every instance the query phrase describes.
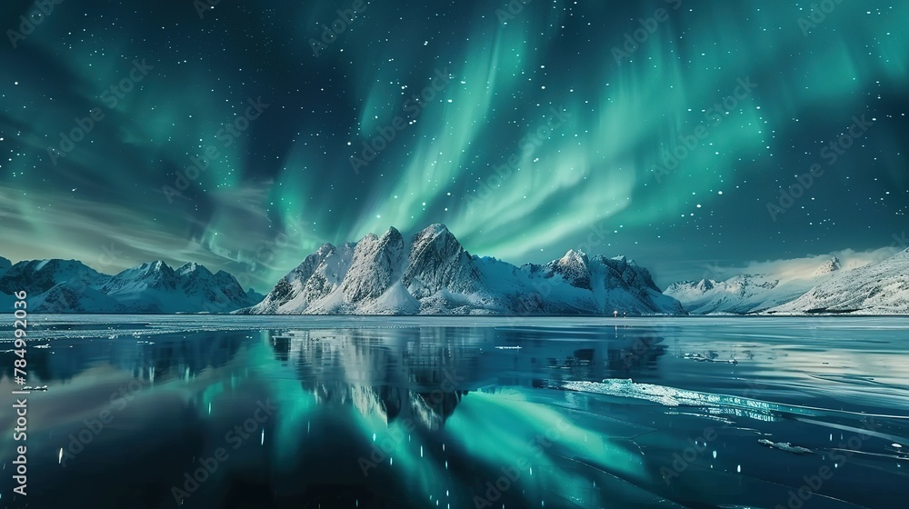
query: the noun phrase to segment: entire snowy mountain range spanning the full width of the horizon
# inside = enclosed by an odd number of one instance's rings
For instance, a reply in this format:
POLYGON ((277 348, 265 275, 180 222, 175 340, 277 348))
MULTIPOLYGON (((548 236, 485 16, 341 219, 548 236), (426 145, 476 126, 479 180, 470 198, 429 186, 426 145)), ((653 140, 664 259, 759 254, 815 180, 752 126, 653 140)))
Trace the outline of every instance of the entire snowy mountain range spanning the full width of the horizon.
POLYGON ((9 308, 21 290, 32 313, 909 314, 909 250, 852 270, 834 257, 805 276, 740 274, 661 292, 624 256, 569 250, 516 266, 470 255, 445 225, 431 225, 409 239, 390 228, 325 244, 267 295, 195 263, 107 275, 75 260, 0 257, 0 305, 9 308))

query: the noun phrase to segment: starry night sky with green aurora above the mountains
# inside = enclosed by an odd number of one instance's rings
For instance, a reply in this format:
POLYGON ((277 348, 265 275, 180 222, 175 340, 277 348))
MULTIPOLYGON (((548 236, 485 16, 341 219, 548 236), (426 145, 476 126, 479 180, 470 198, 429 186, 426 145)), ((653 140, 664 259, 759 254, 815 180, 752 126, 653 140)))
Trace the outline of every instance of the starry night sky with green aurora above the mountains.
POLYGON ((813 4, 5 0, 0 255, 267 291, 392 225, 662 285, 879 249, 909 211, 909 4, 813 4))

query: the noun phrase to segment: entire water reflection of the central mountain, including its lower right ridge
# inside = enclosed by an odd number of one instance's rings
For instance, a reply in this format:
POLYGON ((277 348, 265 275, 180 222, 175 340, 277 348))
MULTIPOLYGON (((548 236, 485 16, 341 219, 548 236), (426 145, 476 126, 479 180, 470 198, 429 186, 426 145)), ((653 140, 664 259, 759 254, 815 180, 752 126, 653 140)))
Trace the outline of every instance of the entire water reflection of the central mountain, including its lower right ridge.
POLYGON ((464 395, 484 385, 646 379, 666 348, 657 331, 639 327, 582 331, 576 341, 560 342, 540 329, 470 331, 453 343, 452 329, 302 330, 272 335, 270 344, 278 361, 295 365, 318 404, 429 429, 443 427, 464 395), (539 378, 541 367, 550 379, 539 378))

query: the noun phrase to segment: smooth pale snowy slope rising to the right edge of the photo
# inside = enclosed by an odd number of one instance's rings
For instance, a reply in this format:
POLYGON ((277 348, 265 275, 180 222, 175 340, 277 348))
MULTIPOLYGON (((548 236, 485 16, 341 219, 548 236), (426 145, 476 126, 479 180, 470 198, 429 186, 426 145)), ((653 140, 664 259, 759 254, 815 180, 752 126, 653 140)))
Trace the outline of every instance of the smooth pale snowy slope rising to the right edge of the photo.
POLYGON ((835 274, 770 314, 909 314, 909 249, 886 260, 835 274))

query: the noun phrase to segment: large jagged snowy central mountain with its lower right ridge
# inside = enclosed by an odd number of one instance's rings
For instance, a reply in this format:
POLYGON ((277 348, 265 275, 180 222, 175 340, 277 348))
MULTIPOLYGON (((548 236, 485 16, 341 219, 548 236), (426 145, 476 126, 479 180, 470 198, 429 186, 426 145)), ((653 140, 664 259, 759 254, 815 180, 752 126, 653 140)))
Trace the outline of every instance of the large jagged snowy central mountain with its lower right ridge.
POLYGON ((445 225, 323 245, 241 314, 683 314, 624 257, 520 267, 470 255, 445 225))

